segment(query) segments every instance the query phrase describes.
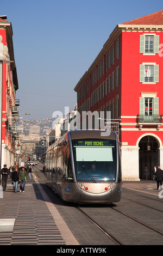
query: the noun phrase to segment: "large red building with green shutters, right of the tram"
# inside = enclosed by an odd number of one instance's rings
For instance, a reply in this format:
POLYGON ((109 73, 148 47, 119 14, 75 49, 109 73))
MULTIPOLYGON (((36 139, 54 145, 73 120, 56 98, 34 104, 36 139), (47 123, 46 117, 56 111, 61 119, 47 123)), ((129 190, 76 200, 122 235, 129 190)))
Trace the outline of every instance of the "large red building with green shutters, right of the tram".
POLYGON ((163 169, 163 10, 117 25, 74 90, 78 111, 111 111, 123 180, 163 169), (115 120, 116 119, 116 120, 115 120))

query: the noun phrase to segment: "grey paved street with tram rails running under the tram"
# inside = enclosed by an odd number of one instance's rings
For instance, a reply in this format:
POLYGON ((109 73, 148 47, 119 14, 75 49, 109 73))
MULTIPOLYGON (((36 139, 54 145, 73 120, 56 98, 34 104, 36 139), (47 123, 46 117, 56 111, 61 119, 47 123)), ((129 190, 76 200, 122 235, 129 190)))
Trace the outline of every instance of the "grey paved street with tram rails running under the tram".
POLYGON ((163 204, 153 181, 124 181, 121 201, 115 204, 74 205, 63 202, 43 180, 37 180, 81 245, 162 245, 163 204))

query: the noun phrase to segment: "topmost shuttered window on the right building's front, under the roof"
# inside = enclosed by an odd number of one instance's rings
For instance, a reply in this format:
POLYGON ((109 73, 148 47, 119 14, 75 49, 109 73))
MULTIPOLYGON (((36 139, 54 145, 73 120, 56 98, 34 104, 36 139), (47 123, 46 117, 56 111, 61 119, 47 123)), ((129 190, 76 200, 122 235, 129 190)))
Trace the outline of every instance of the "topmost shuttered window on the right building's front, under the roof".
POLYGON ((140 35, 140 53, 159 53, 159 35, 140 35))

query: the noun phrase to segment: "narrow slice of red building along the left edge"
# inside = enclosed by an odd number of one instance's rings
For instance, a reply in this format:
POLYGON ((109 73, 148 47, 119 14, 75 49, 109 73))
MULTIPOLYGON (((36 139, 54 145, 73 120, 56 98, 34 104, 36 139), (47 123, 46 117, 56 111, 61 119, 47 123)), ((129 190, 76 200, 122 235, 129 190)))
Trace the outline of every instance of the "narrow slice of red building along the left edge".
POLYGON ((18 89, 17 72, 12 44, 12 26, 5 19, 0 19, 0 59, 11 60, 3 62, 2 81, 2 162, 1 168, 7 164, 9 168, 15 161, 16 114, 19 100, 16 100, 18 89))

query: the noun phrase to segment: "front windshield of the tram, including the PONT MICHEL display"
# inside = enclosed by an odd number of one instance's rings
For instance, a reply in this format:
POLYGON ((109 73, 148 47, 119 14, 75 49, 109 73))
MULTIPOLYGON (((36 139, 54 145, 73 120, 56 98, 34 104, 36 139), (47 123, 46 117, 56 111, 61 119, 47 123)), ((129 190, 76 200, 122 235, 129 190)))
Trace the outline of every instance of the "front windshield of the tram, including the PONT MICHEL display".
POLYGON ((116 141, 74 139, 72 146, 77 182, 115 182, 116 141))

